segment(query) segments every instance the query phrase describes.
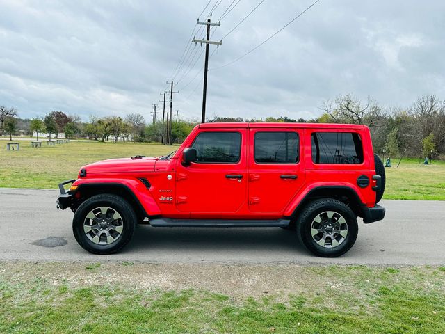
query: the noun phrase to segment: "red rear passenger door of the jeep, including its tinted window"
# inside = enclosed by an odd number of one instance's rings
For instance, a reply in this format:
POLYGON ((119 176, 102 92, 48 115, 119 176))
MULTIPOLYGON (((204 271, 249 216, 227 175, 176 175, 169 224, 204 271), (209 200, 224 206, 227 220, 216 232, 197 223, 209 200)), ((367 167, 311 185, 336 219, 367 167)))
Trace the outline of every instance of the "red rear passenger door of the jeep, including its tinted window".
POLYGON ((249 129, 251 212, 282 212, 305 181, 299 129, 249 129))

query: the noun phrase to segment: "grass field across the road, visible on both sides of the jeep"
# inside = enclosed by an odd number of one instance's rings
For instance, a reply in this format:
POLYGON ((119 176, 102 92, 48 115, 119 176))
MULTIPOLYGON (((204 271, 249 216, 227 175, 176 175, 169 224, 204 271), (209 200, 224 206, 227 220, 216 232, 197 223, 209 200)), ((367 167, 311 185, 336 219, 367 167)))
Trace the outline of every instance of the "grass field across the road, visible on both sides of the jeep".
MULTIPOLYGON (((63 145, 31 148, 21 141, 20 150, 6 151, 0 141, 0 187, 57 189, 63 180, 75 178, 79 168, 92 162, 141 154, 159 156, 176 147, 143 143, 98 143, 71 141, 63 145)), ((396 166, 398 161, 392 161, 396 166)), ((399 168, 386 168, 387 199, 445 200, 445 163, 433 161, 424 166, 418 160, 404 159, 399 168)))

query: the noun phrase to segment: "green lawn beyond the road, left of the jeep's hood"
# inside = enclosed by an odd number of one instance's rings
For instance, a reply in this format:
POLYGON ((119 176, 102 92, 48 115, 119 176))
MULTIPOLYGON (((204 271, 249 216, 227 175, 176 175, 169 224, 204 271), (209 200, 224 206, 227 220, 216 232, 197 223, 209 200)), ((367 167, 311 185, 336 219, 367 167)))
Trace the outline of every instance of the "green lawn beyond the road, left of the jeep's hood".
POLYGON ((7 151, 6 141, 0 141, 0 187, 57 189, 59 182, 75 179, 83 165, 137 154, 156 157, 177 149, 152 143, 43 142, 42 148, 31 148, 29 141, 18 143, 19 151, 7 151))

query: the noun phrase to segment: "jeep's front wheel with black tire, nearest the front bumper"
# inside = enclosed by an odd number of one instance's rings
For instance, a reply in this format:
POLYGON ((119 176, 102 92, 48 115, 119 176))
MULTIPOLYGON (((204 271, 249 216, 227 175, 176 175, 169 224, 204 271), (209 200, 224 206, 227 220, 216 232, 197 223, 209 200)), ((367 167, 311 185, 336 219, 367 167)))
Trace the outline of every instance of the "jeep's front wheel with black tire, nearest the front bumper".
POLYGON ((136 214, 126 200, 120 196, 103 194, 92 196, 79 206, 72 221, 72 231, 79 245, 88 250, 88 252, 93 254, 112 254, 117 253, 129 243, 136 223, 136 214), (101 208, 108 209, 104 209, 106 212, 103 213, 101 208), (107 215, 108 218, 106 217, 107 215), (94 218, 88 218, 88 216, 94 216, 94 218), (86 221, 87 219, 89 221, 86 221), (104 225, 104 231, 102 231, 101 227, 101 232, 99 232, 99 228, 95 228, 95 226, 102 226, 101 224, 106 224, 106 221, 111 222, 113 227, 116 225, 115 230, 111 226, 107 227, 104 225), (96 223, 97 225, 91 225, 90 227, 89 223, 96 223), (90 231, 86 232, 88 229, 90 231), (113 241, 109 244, 106 244, 108 243, 106 233, 111 238, 115 237, 114 240, 110 238, 113 241), (98 234, 100 235, 97 238, 98 234))

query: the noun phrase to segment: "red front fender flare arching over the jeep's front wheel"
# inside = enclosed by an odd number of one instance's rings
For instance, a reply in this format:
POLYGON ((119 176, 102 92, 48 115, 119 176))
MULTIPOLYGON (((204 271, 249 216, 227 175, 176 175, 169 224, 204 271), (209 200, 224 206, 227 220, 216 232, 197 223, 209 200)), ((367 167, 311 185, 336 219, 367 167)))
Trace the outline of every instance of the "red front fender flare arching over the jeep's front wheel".
POLYGON ((100 177, 92 179, 77 179, 73 186, 78 186, 78 190, 82 191, 88 186, 99 187, 116 187, 126 189, 133 196, 133 200, 139 203, 144 209, 147 216, 158 216, 161 214, 161 209, 156 204, 152 193, 149 192, 147 186, 140 180, 134 178, 112 178, 112 177, 100 177))

